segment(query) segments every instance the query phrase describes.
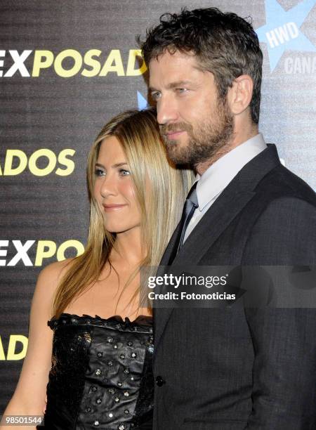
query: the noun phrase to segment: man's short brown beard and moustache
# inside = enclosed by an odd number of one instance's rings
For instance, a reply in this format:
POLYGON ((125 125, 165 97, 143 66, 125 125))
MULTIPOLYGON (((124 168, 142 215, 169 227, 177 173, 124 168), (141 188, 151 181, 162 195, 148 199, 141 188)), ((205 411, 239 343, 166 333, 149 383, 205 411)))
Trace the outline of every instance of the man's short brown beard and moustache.
POLYGON ((175 164, 190 164, 196 167, 197 164, 212 163, 228 152, 228 143, 234 134, 234 124, 226 100, 218 102, 216 112, 213 112, 212 116, 212 121, 204 119, 196 124, 195 133, 192 124, 186 122, 160 126, 166 150, 175 164), (188 140, 185 146, 176 140, 169 140, 166 136, 168 132, 179 130, 187 131, 188 140))

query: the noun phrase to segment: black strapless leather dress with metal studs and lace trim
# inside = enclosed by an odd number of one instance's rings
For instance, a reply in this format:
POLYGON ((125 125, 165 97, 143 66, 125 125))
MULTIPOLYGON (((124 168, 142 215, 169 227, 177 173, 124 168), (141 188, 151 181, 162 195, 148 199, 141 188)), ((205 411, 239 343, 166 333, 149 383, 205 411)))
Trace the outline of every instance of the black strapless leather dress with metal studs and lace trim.
POLYGON ((48 325, 54 335, 45 429, 151 430, 152 317, 62 313, 48 325))

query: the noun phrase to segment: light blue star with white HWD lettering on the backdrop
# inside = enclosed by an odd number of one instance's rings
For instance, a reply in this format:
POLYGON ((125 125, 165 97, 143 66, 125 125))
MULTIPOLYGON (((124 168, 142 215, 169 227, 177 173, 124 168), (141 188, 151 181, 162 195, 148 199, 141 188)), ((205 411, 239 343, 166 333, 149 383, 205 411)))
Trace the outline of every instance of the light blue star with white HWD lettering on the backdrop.
POLYGON ((300 30, 315 3, 316 0, 304 0, 289 11, 284 11, 277 0, 265 0, 266 24, 259 27, 256 33, 259 41, 268 46, 271 72, 277 67, 285 50, 316 51, 312 42, 300 30))

